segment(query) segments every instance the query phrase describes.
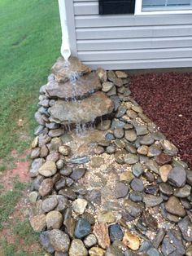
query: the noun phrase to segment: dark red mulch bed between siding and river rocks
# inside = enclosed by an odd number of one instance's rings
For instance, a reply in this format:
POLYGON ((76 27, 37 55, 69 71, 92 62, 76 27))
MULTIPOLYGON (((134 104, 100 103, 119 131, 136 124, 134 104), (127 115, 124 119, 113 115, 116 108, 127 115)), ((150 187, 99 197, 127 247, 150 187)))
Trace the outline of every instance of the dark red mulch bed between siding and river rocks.
POLYGON ((192 73, 136 75, 131 77, 130 90, 192 168, 192 73))

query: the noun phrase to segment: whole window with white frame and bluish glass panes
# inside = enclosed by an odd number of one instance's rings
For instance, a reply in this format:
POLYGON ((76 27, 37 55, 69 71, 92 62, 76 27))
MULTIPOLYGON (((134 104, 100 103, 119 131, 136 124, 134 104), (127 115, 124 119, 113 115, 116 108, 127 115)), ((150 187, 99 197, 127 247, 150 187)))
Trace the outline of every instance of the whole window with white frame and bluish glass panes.
POLYGON ((135 15, 192 13, 192 0, 136 0, 135 15))

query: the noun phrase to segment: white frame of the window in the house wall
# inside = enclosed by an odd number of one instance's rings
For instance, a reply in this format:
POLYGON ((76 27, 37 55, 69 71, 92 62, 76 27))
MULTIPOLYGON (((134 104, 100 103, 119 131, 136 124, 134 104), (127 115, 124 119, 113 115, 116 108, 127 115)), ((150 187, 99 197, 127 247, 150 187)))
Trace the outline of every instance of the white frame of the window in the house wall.
POLYGON ((192 7, 189 10, 164 10, 164 11, 142 11, 142 0, 135 0, 134 15, 175 15, 175 14, 192 14, 192 7))

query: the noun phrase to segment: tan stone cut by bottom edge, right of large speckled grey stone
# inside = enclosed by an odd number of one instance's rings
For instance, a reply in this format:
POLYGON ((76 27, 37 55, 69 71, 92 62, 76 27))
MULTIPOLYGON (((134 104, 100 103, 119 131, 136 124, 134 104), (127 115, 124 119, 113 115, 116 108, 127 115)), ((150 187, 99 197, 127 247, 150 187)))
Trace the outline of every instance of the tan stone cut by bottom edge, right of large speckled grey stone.
POLYGON ((73 239, 68 255, 69 256, 87 256, 88 251, 80 239, 73 239))

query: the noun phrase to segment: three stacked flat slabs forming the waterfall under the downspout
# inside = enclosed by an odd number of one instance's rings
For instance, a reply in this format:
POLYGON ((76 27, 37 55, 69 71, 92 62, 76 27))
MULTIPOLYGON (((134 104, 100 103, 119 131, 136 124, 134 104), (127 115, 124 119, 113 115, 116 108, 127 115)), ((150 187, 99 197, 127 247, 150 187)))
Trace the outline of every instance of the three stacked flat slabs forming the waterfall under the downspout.
MULTIPOLYGON (((50 100, 48 126, 83 126, 112 113, 111 99, 99 91, 102 86, 98 74, 91 73, 76 57, 69 59, 69 63, 59 58, 52 73, 50 81, 42 88, 45 95, 41 96, 42 100, 44 97, 50 100)), ((37 113, 37 121, 40 116, 41 113, 37 113)))

